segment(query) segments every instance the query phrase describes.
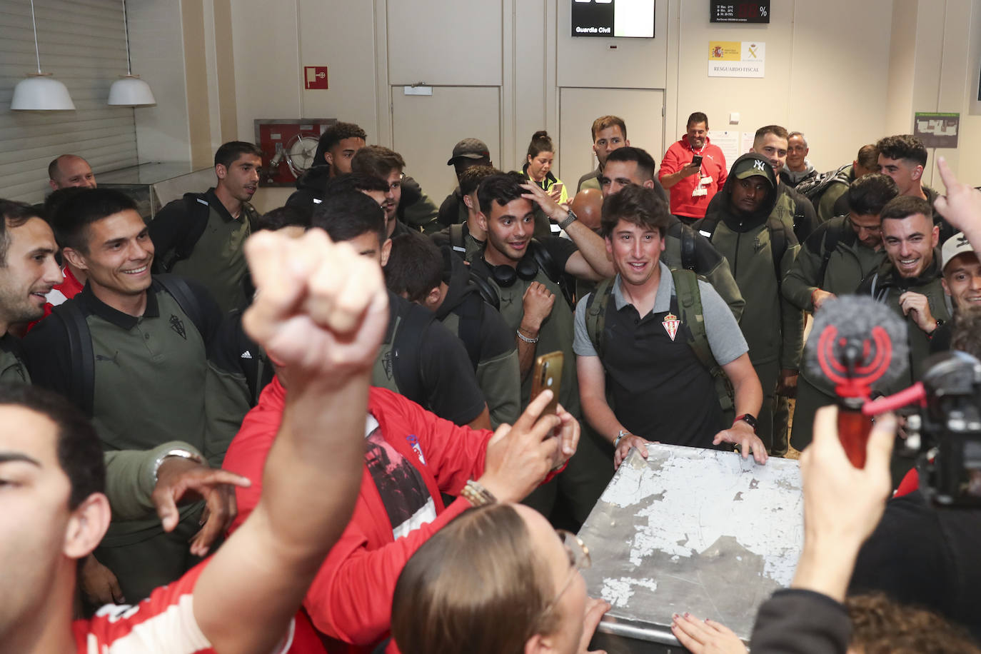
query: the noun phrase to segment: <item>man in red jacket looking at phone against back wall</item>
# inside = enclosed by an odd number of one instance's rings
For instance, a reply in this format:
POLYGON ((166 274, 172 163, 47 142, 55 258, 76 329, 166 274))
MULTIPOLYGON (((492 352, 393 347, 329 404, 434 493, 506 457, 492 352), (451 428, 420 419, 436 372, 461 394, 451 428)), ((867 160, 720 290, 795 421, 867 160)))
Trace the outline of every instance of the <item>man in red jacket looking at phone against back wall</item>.
POLYGON ((691 225, 705 217, 708 203, 726 183, 728 170, 722 150, 708 140, 708 117, 695 112, 688 117, 687 132, 664 153, 657 178, 671 193, 671 213, 691 225), (698 165, 697 156, 701 157, 698 165))

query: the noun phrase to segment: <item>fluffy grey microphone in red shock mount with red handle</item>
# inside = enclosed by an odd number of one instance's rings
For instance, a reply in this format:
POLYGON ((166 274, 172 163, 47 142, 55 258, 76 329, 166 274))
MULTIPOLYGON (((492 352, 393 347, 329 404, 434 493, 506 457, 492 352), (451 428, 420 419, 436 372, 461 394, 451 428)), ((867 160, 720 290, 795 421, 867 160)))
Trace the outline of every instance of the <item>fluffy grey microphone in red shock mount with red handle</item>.
POLYGON ((831 299, 814 315, 804 365, 811 376, 835 387, 840 398, 838 433, 855 468, 865 467, 872 428, 861 407, 873 387, 881 388, 904 372, 908 351, 903 319, 871 297, 831 299))

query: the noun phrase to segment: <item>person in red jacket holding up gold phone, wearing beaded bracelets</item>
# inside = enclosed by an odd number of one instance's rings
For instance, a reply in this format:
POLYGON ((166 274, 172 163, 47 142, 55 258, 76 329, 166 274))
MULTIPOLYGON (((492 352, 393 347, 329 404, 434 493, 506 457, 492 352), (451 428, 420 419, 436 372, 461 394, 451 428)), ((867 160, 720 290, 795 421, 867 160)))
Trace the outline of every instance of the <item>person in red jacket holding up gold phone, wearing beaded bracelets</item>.
MULTIPOLYGON (((288 386, 289 371, 284 373, 288 386)), ((236 490, 232 530, 262 491, 256 480, 262 478, 285 397, 284 383, 274 379, 226 455, 225 469, 253 479, 250 487, 236 490)), ((329 651, 369 652, 387 637, 395 581, 439 528, 471 506, 520 501, 565 464, 575 451, 579 424, 561 408, 558 418, 540 420, 550 397, 551 391, 543 392, 513 428, 491 432, 457 427, 401 395, 371 389, 354 516, 303 603, 314 626, 328 636, 329 651), (553 437, 559 425, 559 437, 553 437), (444 507, 443 492, 460 497, 444 507)))

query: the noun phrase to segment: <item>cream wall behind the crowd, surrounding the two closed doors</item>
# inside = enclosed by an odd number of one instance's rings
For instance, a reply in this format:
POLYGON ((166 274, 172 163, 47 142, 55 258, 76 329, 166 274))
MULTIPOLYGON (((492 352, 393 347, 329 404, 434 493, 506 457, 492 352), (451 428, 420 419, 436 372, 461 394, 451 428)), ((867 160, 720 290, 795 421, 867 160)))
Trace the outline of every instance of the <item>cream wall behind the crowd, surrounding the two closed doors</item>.
MULTIPOLYGON (((204 0, 205 6, 213 1, 204 0)), ((257 118, 337 118, 364 126, 370 142, 390 145, 391 84, 499 84, 501 154, 495 163, 510 168, 523 159, 533 131, 558 133, 561 87, 663 89, 664 142, 649 149, 663 150, 691 112, 704 111, 718 129, 746 132, 776 123, 804 131, 819 170, 851 161, 864 143, 908 131, 914 111, 959 111, 961 147, 945 154, 955 170, 981 184, 981 162, 960 157, 981 145, 981 103, 974 100, 981 0, 772 0, 769 25, 710 24, 708 3, 660 0, 655 38, 639 40, 572 37, 569 3, 284 0, 271 9, 263 0, 234 0, 238 137, 251 140, 257 118), (708 77, 710 40, 765 42, 766 76, 708 77), (303 90, 304 65, 328 66, 330 89, 303 90), (969 115, 972 110, 977 115, 969 115), (741 114, 739 125, 728 124, 731 112, 741 114)), ((166 70, 171 82, 180 68, 144 61, 139 67, 166 70)), ((182 148, 178 100, 175 107, 137 110, 144 129, 141 111, 172 121, 154 126, 160 151, 182 148)), ((564 149, 589 147, 588 129, 560 135, 559 171, 564 149)), ((412 152, 402 154, 412 161, 412 152)), ((653 154, 659 160, 662 152, 653 154)), ((563 175, 571 182, 582 172, 563 175)), ((269 189, 257 202, 275 206, 286 194, 269 189)))

